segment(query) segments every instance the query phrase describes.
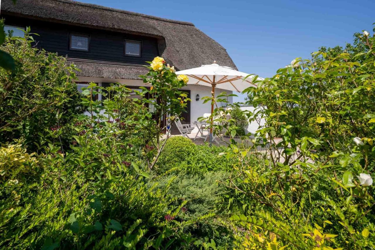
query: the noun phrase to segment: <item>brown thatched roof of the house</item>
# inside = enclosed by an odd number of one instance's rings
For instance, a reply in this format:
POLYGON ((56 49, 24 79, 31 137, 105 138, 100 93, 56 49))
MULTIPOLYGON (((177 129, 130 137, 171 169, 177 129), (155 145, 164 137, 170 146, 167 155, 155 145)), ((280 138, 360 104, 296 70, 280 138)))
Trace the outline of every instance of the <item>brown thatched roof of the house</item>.
MULTIPOLYGON (((71 0, 18 0, 16 6, 12 4, 11 0, 2 0, 1 14, 153 36, 158 38, 161 56, 178 70, 211 64, 214 60, 219 65, 236 69, 236 65, 226 53, 225 48, 197 29, 192 23, 71 0)), ((75 62, 75 64, 79 63, 75 62)), ((124 74, 126 73, 124 71, 134 68, 137 69, 136 72, 140 70, 139 67, 87 62, 81 63, 81 67, 80 65, 78 67, 89 75, 89 71, 95 73, 95 69, 91 69, 94 65, 103 72, 111 69, 114 74, 124 74), (116 67, 117 69, 115 69, 116 67)), ((141 71, 143 70, 141 69, 141 71)), ((126 74, 132 73, 127 72, 126 74)))

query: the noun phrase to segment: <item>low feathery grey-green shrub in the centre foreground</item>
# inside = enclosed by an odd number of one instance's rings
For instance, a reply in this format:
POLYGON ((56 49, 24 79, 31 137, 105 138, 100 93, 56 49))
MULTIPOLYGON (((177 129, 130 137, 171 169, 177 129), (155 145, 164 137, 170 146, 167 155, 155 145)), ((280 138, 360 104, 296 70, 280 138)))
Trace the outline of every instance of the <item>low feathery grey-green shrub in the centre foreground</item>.
MULTIPOLYGON (((175 199, 171 205, 178 206, 181 202, 186 202, 181 208, 183 220, 190 220, 210 213, 226 217, 223 214, 225 209, 221 204, 222 195, 226 191, 223 183, 226 178, 228 178, 226 172, 206 172, 199 176, 190 173, 166 175, 158 180, 157 187, 163 189, 169 185, 168 194, 175 199)), ((148 185, 153 185, 153 183, 148 185)), ((225 242, 220 242, 220 239, 225 238, 223 235, 228 234, 227 229, 215 219, 194 224, 185 230, 200 240, 219 237, 216 241, 217 245, 225 244, 225 242)), ((229 242, 226 243, 229 244, 229 242)))

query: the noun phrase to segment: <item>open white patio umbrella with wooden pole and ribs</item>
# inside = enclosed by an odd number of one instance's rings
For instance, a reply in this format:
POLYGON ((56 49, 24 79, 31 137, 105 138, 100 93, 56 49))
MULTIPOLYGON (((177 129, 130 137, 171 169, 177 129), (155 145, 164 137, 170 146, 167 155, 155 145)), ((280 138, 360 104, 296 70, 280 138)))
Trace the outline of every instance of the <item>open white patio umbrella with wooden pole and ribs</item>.
MULTIPOLYGON (((177 75, 187 75, 189 82, 187 84, 212 87, 212 95, 215 95, 215 88, 242 92, 252 83, 252 76, 244 79, 249 74, 237 71, 233 68, 220 66, 214 61, 210 65, 202 65, 198 68, 186 69, 176 72, 177 75)), ((214 107, 211 105, 211 114, 214 107)), ((211 125, 213 117, 211 117, 211 125)), ((210 145, 212 144, 212 126, 210 128, 210 145)))

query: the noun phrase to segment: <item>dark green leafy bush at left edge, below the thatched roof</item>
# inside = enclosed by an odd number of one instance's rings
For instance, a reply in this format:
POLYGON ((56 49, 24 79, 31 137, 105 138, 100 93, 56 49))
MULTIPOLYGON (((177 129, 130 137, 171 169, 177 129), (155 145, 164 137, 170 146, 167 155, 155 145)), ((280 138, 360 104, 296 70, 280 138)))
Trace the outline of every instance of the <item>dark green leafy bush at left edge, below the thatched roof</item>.
POLYGON ((60 126, 62 143, 68 145, 72 136, 68 124, 84 111, 74 83, 76 69, 57 54, 31 47, 31 42, 7 37, 1 46, 13 57, 17 74, 0 68, 0 140, 23 137, 32 150, 40 143, 39 133, 60 126))

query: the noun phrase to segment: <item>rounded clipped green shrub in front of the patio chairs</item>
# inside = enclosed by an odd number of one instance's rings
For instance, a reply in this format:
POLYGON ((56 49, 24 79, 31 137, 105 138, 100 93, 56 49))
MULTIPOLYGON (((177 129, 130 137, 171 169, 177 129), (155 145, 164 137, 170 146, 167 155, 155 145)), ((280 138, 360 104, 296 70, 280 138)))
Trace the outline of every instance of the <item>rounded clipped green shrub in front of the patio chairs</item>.
POLYGON ((173 136, 167 140, 157 160, 157 171, 165 172, 175 164, 184 161, 189 155, 195 153, 196 145, 184 136, 173 136))

